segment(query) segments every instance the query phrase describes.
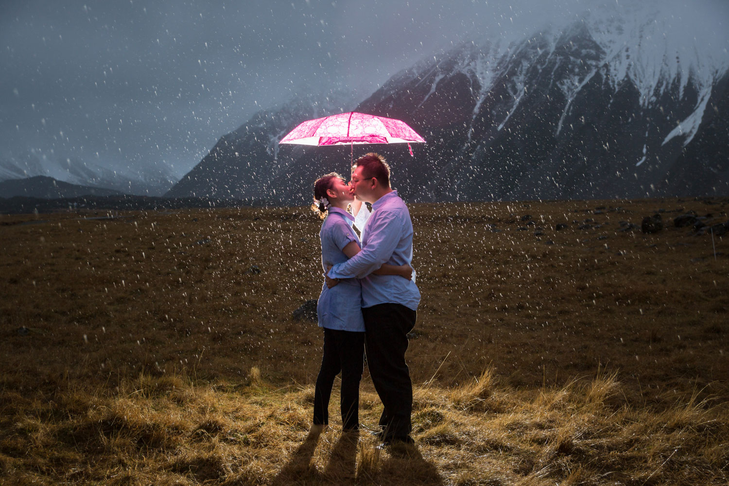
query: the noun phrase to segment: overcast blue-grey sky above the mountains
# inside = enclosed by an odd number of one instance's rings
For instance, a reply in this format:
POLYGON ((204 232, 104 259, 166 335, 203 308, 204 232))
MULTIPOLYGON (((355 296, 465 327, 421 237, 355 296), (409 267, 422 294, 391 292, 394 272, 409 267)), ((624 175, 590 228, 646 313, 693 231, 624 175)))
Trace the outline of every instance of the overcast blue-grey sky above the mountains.
POLYGON ((531 34, 590 3, 5 0, 0 157, 34 149, 182 176, 293 93, 341 84, 366 96, 466 34, 531 34))

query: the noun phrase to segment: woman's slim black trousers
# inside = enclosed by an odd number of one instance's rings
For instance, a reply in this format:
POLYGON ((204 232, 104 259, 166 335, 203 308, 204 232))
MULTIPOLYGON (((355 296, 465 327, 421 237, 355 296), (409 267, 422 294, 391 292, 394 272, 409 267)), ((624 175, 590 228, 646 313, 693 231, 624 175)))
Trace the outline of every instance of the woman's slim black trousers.
POLYGON ((362 380, 364 332, 324 328, 324 356, 314 388, 316 425, 329 423, 329 399, 334 378, 342 372, 340 409, 346 430, 359 428, 359 381, 362 380))

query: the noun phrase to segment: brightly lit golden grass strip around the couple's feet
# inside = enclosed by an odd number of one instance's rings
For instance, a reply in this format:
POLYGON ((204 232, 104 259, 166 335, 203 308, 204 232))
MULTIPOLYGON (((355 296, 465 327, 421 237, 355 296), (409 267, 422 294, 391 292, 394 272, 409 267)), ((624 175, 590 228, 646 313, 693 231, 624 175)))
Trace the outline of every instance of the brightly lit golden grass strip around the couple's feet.
MULTIPOLYGON (((1 393, 2 484, 719 485, 729 409, 704 399, 628 404, 615 374, 517 389, 487 369, 456 388, 415 388, 416 447, 381 451, 340 423, 308 434, 313 388, 141 374, 85 389, 1 393)), ((338 397, 332 397, 332 416, 338 397)), ((381 404, 364 380, 360 420, 381 404)))

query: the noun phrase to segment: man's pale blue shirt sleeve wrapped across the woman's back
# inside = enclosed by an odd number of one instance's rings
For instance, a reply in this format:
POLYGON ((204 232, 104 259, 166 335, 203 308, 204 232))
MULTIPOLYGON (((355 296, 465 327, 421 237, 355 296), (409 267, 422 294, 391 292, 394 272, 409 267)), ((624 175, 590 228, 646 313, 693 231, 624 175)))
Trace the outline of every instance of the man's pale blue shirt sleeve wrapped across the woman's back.
POLYGON ((396 213, 381 211, 367 225, 367 245, 346 262, 335 264, 331 278, 364 278, 389 261, 400 238, 400 218, 396 213))

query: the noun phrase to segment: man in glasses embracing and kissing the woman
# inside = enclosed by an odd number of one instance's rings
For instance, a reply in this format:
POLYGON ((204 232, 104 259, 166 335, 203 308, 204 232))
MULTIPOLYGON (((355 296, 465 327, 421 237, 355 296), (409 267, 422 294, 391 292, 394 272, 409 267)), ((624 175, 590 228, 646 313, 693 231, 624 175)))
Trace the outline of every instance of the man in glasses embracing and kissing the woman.
POLYGON ((420 292, 413 279, 372 273, 383 263, 412 262, 413 223, 408 207, 390 187, 390 169, 380 155, 369 153, 356 160, 349 186, 357 199, 372 204, 372 214, 362 233, 362 251, 334 265, 327 273, 327 286, 336 285, 339 278, 362 279, 367 367, 384 406, 377 435, 384 445, 412 443, 413 384, 405 351, 420 292))

